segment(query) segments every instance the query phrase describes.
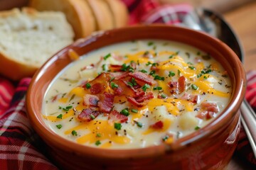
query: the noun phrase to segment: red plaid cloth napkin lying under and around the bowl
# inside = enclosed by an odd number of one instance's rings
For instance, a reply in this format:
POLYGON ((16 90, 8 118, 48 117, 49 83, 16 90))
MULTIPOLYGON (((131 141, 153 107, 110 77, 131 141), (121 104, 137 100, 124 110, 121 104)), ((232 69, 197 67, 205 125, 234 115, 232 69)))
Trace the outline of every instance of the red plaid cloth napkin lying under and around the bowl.
MULTIPOLYGON (((161 6, 157 0, 122 0, 130 13, 129 24, 182 23, 193 10, 188 4, 161 6)), ((248 72, 246 98, 256 108, 256 72, 248 72)), ((45 144, 31 128, 26 116, 25 95, 31 78, 16 84, 0 76, 0 169, 58 169, 43 152, 45 144)), ((237 152, 256 166, 249 142, 242 130, 237 152)))

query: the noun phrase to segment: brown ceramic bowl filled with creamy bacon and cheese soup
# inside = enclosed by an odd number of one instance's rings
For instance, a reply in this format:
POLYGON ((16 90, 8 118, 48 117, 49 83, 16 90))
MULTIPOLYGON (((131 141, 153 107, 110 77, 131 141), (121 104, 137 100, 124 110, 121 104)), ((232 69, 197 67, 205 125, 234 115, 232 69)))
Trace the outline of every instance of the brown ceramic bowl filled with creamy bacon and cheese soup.
POLYGON ((26 106, 61 169, 224 169, 245 84, 220 40, 134 26, 60 50, 34 75, 26 106))

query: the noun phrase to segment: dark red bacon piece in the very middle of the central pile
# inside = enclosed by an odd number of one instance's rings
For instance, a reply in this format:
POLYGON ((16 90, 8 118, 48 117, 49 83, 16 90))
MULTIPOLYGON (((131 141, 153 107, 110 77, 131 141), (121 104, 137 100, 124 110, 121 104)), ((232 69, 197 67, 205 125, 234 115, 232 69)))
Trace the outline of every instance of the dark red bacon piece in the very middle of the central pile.
POLYGON ((114 94, 117 96, 136 96, 136 91, 128 86, 122 79, 114 79, 113 82, 118 85, 117 88, 114 88, 114 94))

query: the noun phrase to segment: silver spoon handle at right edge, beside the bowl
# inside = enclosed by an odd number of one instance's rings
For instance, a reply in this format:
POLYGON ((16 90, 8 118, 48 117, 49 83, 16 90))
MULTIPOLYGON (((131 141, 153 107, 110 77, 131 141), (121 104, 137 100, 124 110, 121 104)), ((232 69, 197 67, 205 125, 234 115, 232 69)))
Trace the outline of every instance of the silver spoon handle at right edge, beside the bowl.
POLYGON ((256 158, 256 115, 251 106, 244 99, 240 107, 242 125, 245 128, 250 145, 252 146, 252 152, 256 158))

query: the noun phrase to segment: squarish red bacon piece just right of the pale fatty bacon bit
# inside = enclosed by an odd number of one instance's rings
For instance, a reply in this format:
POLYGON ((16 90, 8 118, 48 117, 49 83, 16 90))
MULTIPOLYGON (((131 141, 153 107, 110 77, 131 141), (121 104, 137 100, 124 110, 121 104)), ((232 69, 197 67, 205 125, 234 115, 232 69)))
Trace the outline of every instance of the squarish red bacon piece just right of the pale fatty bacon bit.
POLYGON ((114 94, 104 92, 104 94, 100 94, 99 97, 99 111, 104 113, 110 113, 114 104, 114 94))

